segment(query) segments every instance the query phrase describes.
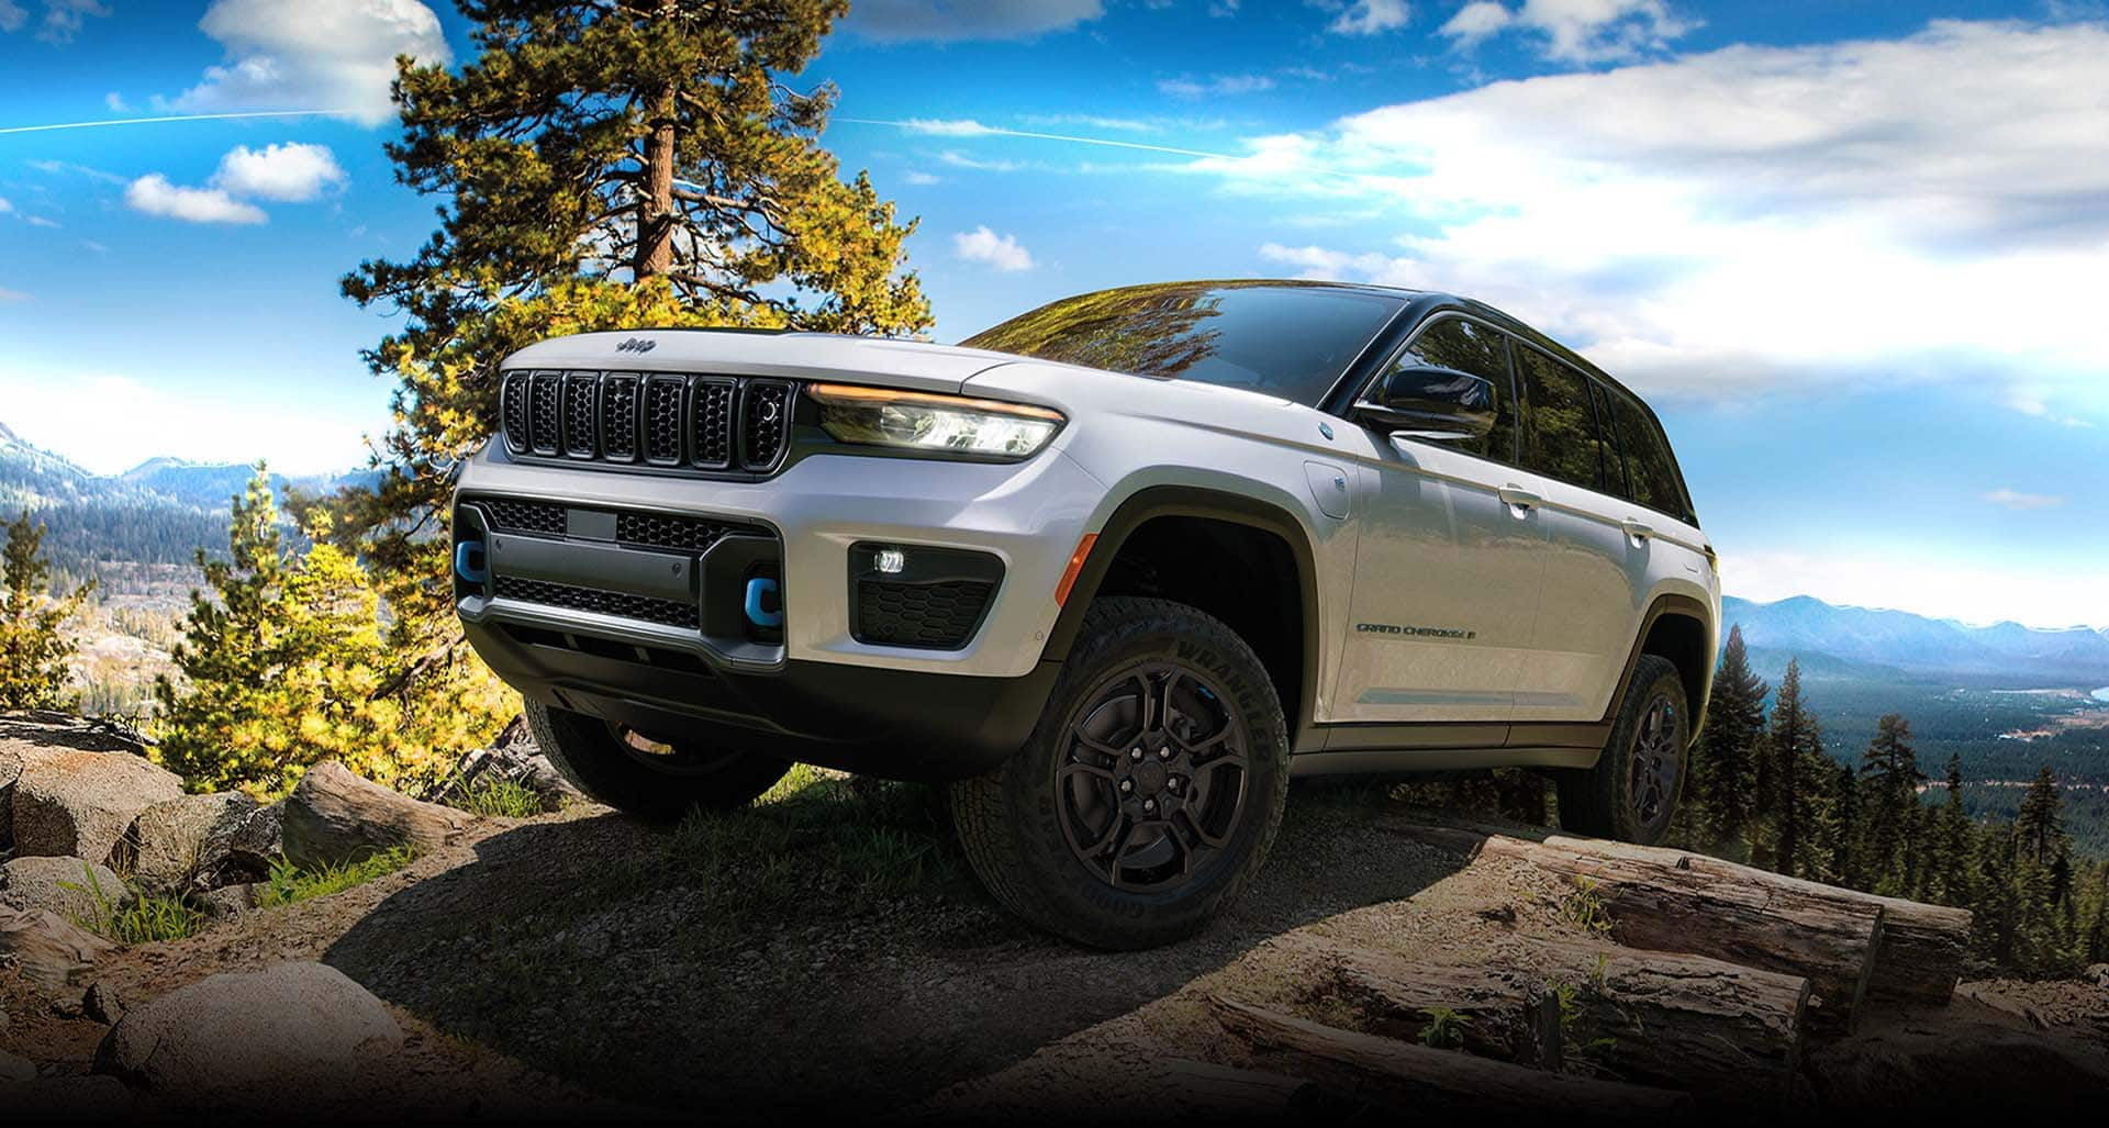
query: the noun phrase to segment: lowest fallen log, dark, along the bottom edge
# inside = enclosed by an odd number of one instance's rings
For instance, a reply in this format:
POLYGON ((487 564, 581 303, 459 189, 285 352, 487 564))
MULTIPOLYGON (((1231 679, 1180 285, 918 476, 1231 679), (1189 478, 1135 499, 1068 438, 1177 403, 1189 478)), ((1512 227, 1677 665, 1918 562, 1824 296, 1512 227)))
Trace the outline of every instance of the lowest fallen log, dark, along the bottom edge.
POLYGON ((1213 999, 1225 1031, 1278 1067, 1327 1090, 1400 1111, 1544 1113, 1580 1117, 1668 1117, 1689 1109, 1681 1092, 1550 1073, 1459 1050, 1341 1031, 1257 1006, 1213 999))

